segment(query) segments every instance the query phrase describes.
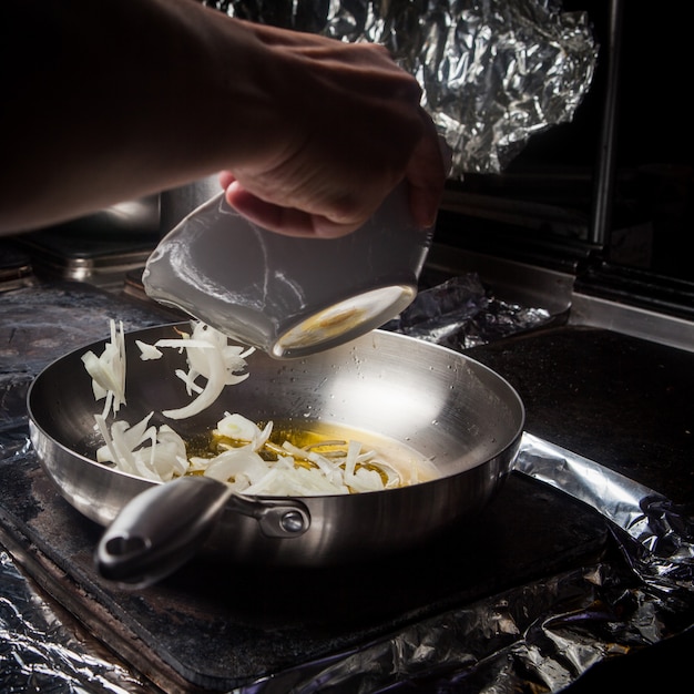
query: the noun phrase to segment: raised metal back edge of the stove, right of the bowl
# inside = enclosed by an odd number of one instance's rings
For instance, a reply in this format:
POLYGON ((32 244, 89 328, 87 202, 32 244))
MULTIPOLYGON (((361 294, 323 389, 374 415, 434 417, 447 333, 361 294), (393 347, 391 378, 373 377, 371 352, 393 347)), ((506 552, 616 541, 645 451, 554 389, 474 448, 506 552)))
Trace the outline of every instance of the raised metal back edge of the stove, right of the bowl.
POLYGON ((575 289, 575 275, 519 261, 432 244, 427 267, 451 275, 476 272, 497 296, 567 315, 567 324, 613 330, 694 351, 694 322, 575 289))

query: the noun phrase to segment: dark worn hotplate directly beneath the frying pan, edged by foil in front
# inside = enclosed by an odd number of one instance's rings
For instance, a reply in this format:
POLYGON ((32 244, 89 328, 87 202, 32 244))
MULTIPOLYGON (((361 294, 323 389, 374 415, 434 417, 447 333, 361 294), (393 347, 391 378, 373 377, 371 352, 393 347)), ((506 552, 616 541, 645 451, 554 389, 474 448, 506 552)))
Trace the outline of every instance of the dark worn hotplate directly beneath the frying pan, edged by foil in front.
POLYGON ((3 533, 33 558, 34 579, 49 592, 59 588, 63 604, 105 643, 118 642, 121 655, 126 647, 124 657, 165 690, 228 691, 344 653, 593 561, 606 538, 598 513, 512 474, 473 524, 450 528, 416 552, 323 570, 224 565, 203 557, 131 592, 98 575, 93 548, 103 530, 58 494, 33 456, 0 467, 0 490, 3 533))

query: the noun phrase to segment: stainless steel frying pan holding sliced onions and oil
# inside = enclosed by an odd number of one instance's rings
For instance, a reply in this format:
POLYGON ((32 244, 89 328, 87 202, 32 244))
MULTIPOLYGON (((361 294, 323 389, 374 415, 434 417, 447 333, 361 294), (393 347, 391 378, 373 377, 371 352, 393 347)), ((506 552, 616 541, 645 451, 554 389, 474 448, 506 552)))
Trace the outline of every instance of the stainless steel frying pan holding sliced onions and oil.
MULTIPOLYGON (((185 368, 184 355, 167 349, 162 359, 142 361, 134 344, 173 336, 173 325, 125 336, 127 404, 119 418, 134 423, 188 401, 173 377, 185 368)), ((155 484, 95 462, 102 441, 94 415, 102 404, 94 400, 81 361, 89 349, 101 354, 103 343, 58 359, 32 384, 31 440, 61 494, 96 523, 113 523, 100 545, 99 565, 106 578, 122 582, 144 584, 171 572, 172 557, 177 564, 200 549, 196 524, 205 525, 205 553, 234 562, 325 565, 414 547, 487 504, 510 470, 524 425, 520 397, 498 374, 414 338, 375 330, 288 361, 258 351, 248 357, 249 378, 227 387, 207 410, 181 421, 159 416, 152 423, 166 421, 186 437, 214 427, 225 411, 254 421, 333 422, 407 442, 443 476, 360 494, 229 498, 220 482, 182 478, 187 481, 155 484), (162 499, 163 488, 172 491, 162 499), (160 499, 140 496, 146 490, 160 499), (135 498, 133 507, 129 502, 135 498)))

